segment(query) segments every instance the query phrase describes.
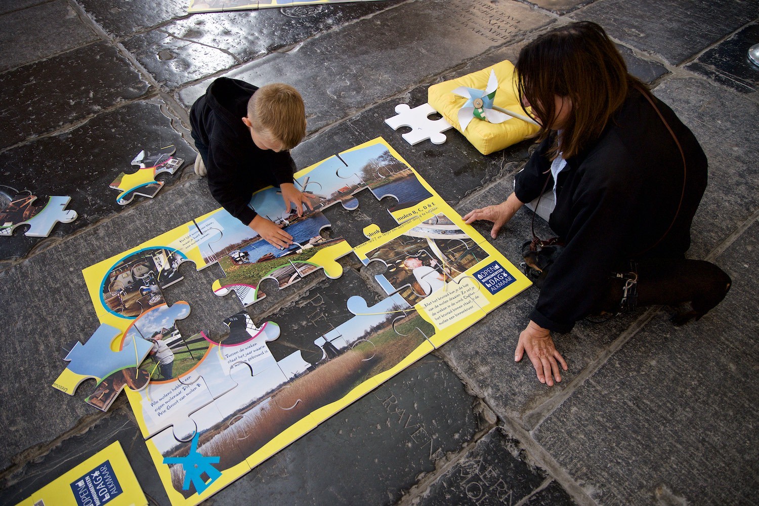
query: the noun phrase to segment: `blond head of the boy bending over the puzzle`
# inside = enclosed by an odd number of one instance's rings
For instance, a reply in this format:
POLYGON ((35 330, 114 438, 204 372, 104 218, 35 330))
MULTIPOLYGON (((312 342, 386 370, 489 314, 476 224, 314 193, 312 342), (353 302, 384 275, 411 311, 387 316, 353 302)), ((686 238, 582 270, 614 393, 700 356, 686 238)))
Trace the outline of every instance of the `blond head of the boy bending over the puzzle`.
POLYGON ((306 108, 298 90, 283 83, 261 86, 247 102, 250 127, 282 149, 298 146, 306 135, 306 108))

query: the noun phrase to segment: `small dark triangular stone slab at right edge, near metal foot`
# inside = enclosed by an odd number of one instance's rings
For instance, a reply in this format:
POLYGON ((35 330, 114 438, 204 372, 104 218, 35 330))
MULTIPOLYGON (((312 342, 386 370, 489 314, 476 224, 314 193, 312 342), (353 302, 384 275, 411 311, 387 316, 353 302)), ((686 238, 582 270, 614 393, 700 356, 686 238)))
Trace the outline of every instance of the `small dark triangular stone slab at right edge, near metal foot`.
POLYGON ((748 58, 748 48, 754 44, 759 44, 757 23, 739 30, 685 68, 755 97, 759 91, 759 65, 748 58))

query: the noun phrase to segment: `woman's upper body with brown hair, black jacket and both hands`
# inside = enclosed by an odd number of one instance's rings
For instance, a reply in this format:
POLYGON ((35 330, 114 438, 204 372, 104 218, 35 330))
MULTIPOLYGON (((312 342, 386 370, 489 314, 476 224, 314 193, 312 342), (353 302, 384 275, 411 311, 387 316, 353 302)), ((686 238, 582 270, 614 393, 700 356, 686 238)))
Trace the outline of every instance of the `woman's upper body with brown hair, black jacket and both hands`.
POLYGON ((569 332, 587 316, 608 291, 611 273, 626 272, 630 259, 684 258, 707 159, 672 109, 628 74, 597 24, 568 24, 540 36, 521 50, 516 71, 522 103, 542 127, 540 145, 517 174, 515 192, 465 220, 493 222, 495 238, 523 203, 553 188, 549 225, 566 247, 514 357, 527 352, 537 378, 551 386, 561 381, 559 364, 567 365, 550 331, 569 332))

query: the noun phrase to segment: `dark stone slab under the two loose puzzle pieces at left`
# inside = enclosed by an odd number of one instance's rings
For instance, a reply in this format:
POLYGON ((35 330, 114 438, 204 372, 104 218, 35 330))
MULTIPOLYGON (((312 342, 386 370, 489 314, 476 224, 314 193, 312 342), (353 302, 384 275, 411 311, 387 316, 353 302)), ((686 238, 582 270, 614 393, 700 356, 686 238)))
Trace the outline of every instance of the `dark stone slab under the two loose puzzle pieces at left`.
MULTIPOLYGON (((0 160, 0 176, 4 184, 19 190, 26 188, 37 196, 71 196, 68 209, 77 211, 79 217, 74 222, 55 225, 51 237, 71 234, 123 209, 116 203, 118 191, 109 188, 109 184, 121 171, 137 170, 130 162, 141 149, 174 143, 176 156, 194 161, 194 150, 162 108, 165 105, 157 101, 133 102, 97 115, 74 130, 8 149, 0 160)), ((165 185, 156 200, 161 200, 178 180, 181 170, 173 176, 159 175, 165 185)), ((127 206, 135 206, 140 200, 146 199, 136 196, 127 206)), ((0 258, 23 257, 45 240, 25 237, 17 229, 14 237, 5 237, 0 243, 0 258)))

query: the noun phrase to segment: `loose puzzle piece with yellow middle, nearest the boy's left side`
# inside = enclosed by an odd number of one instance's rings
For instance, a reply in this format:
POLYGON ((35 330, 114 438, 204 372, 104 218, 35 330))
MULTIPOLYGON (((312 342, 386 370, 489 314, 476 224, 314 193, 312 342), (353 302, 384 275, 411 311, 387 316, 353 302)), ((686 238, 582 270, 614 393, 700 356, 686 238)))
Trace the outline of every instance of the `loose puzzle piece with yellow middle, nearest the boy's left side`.
POLYGON ((124 206, 134 199, 135 195, 153 198, 163 187, 163 181, 156 181, 156 175, 162 172, 174 174, 182 166, 184 160, 174 158, 172 154, 176 147, 162 147, 158 152, 146 152, 144 149, 134 157, 131 164, 140 167, 134 174, 118 174, 110 184, 115 190, 121 190, 116 202, 124 206))

